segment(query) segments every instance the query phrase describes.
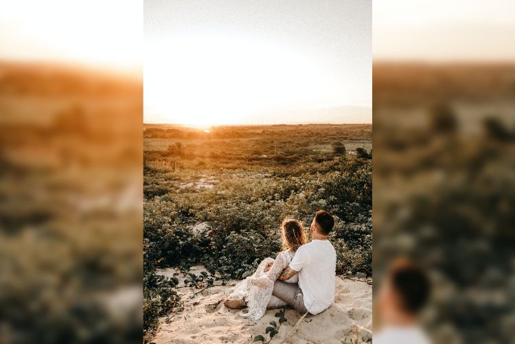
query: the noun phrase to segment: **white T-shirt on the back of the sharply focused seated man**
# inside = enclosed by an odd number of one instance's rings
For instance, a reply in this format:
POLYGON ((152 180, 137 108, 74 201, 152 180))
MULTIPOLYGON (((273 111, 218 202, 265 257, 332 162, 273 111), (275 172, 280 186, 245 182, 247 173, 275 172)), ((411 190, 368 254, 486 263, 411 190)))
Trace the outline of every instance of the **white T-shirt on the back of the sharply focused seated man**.
POLYGON ((336 251, 332 244, 328 240, 313 240, 302 245, 290 268, 299 271, 299 287, 309 312, 318 314, 329 308, 336 279, 336 251))

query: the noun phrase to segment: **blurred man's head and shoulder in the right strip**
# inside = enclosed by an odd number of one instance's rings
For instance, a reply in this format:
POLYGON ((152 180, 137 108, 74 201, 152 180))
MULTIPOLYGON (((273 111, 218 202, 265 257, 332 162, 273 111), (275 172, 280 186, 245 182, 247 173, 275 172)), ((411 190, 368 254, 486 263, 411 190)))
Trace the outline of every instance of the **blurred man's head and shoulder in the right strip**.
POLYGON ((417 325, 417 315, 429 293, 429 279, 421 268, 407 260, 396 261, 380 289, 378 311, 382 330, 374 334, 374 344, 430 343, 417 325))

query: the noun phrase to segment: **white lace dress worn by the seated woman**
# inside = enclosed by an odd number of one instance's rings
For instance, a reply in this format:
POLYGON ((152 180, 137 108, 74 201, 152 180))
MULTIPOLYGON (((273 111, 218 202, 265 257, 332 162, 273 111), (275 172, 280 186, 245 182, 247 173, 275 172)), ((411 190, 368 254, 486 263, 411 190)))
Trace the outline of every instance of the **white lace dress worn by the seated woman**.
MULTIPOLYGON (((284 301, 272 295, 273 284, 277 277, 281 275, 283 269, 290 264, 294 255, 295 253, 293 252, 282 251, 275 260, 273 258, 265 258, 253 275, 236 284, 229 295, 229 299, 244 299, 248 307, 248 312, 242 312, 240 315, 258 320, 263 316, 266 308, 286 306, 284 301), (264 268, 268 262, 273 262, 273 266, 267 273, 264 273, 264 268)), ((294 275, 286 282, 297 283, 299 282, 299 277, 294 275)))

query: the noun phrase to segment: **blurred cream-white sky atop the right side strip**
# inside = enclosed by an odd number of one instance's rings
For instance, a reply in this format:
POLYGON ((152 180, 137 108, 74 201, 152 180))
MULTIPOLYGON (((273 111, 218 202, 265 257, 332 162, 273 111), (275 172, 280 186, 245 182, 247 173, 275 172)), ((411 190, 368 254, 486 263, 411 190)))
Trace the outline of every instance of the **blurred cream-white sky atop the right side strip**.
POLYGON ((374 0, 374 60, 515 60, 513 0, 374 0))

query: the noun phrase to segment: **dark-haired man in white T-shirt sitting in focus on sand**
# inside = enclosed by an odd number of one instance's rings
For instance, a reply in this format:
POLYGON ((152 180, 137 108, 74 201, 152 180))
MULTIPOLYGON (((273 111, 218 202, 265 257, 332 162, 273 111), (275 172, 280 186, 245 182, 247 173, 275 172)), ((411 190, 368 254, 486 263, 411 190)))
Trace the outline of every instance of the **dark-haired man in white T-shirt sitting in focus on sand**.
POLYGON ((302 314, 319 314, 334 300, 336 251, 328 240, 332 227, 332 216, 327 211, 317 211, 310 227, 311 242, 297 249, 295 257, 273 286, 272 295, 302 314), (296 273, 299 274, 298 285, 283 282, 296 273))

